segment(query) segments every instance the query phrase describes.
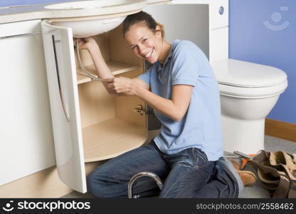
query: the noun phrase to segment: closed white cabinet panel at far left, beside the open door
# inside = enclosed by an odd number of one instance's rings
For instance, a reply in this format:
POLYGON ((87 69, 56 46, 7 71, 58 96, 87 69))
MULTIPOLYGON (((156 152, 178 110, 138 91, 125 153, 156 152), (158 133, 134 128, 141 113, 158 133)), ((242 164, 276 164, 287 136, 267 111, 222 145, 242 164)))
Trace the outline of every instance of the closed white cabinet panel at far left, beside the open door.
POLYGON ((0 24, 0 187, 56 163, 40 22, 0 24))

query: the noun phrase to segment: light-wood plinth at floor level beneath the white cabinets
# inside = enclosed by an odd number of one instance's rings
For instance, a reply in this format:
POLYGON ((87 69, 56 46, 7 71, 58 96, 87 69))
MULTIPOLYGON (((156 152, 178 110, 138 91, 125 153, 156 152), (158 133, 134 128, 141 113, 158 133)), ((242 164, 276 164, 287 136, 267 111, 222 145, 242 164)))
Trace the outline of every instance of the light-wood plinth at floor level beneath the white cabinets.
MULTIPOLYGON (((101 165, 102 161, 85 163, 85 173, 101 165)), ((0 198, 60 198, 72 192, 60 178, 56 166, 33 173, 0 186, 0 198)))

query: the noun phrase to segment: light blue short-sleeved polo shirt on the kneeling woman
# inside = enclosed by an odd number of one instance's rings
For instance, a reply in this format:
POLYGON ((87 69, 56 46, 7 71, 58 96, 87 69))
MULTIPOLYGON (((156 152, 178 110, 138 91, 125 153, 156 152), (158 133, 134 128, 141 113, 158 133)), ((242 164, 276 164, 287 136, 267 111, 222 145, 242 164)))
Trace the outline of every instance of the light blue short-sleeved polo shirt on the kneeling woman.
POLYGON ((154 138, 160 151, 174 154, 195 147, 206 153, 208 161, 223 156, 218 83, 201 49, 191 41, 176 40, 164 64, 157 61, 138 78, 145 81, 153 93, 168 99, 171 99, 172 86, 194 86, 181 121, 154 110, 162 123, 159 135, 154 138))

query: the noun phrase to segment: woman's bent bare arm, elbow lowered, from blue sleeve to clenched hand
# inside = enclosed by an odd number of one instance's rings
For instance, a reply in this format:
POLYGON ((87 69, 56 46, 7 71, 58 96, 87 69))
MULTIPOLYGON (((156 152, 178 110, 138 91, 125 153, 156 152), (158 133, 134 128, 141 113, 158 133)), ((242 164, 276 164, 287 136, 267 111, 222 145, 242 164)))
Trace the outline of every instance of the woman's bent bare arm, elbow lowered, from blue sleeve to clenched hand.
POLYGON ((181 121, 191 101, 194 86, 174 85, 171 89, 171 99, 167 99, 152 93, 147 87, 143 87, 143 85, 139 84, 139 80, 139 78, 129 79, 119 77, 115 78, 114 82, 110 83, 108 87, 112 88, 116 93, 138 96, 160 113, 174 121, 181 121))

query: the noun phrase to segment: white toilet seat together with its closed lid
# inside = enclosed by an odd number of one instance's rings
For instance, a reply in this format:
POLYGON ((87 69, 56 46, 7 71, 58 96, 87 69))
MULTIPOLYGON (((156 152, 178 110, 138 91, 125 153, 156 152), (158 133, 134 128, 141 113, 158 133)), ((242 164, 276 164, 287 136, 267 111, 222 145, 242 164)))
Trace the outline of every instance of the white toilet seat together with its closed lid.
POLYGON ((287 75, 279 68, 230 58, 214 61, 211 66, 224 96, 265 98, 287 88, 287 75))

